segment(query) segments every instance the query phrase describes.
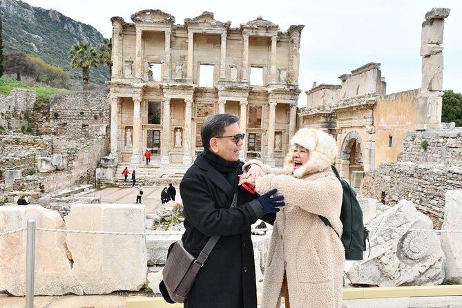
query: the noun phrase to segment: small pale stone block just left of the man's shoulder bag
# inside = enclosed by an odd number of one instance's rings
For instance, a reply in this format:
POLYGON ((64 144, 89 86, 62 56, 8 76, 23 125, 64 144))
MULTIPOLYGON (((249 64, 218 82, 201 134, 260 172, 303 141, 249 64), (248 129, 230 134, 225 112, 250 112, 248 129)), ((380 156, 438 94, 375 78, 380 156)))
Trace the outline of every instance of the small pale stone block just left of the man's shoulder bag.
POLYGON ((177 235, 147 235, 148 265, 164 265, 170 245, 177 240, 181 240, 181 236, 182 234, 180 233, 177 235))

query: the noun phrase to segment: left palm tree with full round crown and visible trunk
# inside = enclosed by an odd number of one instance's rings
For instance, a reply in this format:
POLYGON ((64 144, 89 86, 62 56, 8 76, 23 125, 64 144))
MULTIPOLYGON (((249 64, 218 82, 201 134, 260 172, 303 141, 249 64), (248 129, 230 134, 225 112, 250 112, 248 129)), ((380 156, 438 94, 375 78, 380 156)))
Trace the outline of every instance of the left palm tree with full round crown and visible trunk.
POLYGON ((88 90, 88 80, 90 79, 90 66, 99 66, 95 48, 89 41, 81 41, 72 46, 69 50, 70 67, 82 69, 82 79, 84 80, 84 91, 88 90))

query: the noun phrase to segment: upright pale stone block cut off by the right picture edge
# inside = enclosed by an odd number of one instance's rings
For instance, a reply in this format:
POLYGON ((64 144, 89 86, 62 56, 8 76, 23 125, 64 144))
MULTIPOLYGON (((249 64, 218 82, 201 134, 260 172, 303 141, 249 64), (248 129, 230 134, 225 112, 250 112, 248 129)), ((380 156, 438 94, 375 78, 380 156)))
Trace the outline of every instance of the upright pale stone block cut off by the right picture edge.
MULTIPOLYGON (((441 230, 462 230, 462 191, 447 191, 444 223, 441 230)), ((462 285, 462 233, 441 233, 446 256, 445 279, 462 285)))

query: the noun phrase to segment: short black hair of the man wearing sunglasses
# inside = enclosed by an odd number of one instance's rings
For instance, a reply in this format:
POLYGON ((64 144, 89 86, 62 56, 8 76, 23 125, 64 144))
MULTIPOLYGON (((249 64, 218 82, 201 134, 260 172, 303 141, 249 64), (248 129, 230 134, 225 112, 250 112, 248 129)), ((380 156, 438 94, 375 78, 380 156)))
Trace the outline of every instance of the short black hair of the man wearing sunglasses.
POLYGON ((239 118, 230 113, 218 113, 206 117, 202 128, 200 129, 200 137, 202 138, 202 146, 205 150, 210 148, 210 139, 220 137, 224 134, 224 130, 231 124, 238 123, 239 118))

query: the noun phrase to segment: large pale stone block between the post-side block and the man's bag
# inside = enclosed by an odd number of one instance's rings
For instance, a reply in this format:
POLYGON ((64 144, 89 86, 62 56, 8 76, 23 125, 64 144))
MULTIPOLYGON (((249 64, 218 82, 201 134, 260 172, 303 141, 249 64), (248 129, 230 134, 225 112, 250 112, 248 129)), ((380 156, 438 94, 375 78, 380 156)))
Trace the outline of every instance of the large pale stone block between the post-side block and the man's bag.
MULTIPOLYGON (((144 232, 144 206, 74 204, 67 229, 144 232)), ((73 274, 87 294, 140 289, 146 282, 146 244, 142 235, 68 233, 73 274)))

